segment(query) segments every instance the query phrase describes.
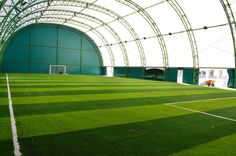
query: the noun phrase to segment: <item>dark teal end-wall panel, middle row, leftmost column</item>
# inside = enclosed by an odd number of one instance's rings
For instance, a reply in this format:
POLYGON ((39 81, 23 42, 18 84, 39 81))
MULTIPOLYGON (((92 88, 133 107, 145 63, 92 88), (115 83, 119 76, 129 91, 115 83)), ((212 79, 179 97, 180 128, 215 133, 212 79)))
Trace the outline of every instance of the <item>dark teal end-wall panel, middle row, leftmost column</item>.
POLYGON ((28 63, 29 61, 29 47, 24 44, 9 44, 6 48, 7 51, 14 51, 14 53, 6 53, 4 58, 5 62, 14 63, 28 63), (17 55, 16 55, 17 53, 17 55), (17 56, 17 57, 16 57, 17 56))

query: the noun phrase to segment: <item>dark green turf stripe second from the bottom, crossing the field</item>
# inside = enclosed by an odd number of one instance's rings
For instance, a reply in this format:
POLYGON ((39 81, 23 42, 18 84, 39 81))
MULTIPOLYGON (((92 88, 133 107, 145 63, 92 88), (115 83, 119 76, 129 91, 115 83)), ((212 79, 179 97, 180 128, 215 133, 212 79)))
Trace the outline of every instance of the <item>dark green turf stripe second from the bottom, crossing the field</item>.
MULTIPOLYGON (((156 105, 171 102, 184 102, 190 100, 201 99, 214 99, 221 97, 233 97, 235 92, 232 93, 218 93, 218 94, 195 94, 189 96, 165 96, 165 97, 149 97, 149 98, 127 98, 127 99, 114 99, 114 100, 98 100, 98 101, 79 101, 79 102, 58 102, 58 103, 45 103, 45 104, 15 104, 15 116, 23 115, 37 115, 37 114, 50 114, 61 113, 70 111, 83 111, 119 107, 132 107, 132 106, 145 106, 156 105)), ((14 100, 13 100, 14 103, 14 100)), ((0 117, 8 116, 7 105, 0 105, 0 117)))

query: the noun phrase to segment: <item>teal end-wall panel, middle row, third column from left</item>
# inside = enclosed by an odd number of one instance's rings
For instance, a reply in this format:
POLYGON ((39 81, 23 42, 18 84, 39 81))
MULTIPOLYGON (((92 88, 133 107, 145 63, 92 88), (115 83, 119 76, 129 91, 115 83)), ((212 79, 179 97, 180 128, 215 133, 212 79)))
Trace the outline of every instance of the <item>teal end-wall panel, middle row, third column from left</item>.
POLYGON ((71 64, 80 66, 80 54, 80 50, 63 48, 58 49, 58 64, 71 64))

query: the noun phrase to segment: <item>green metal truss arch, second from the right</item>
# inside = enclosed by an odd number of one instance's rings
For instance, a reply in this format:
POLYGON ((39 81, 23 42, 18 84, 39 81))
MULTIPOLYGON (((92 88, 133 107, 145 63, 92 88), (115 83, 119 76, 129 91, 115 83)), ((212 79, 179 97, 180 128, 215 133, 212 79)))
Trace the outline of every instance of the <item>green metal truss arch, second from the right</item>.
POLYGON ((178 14, 180 20, 182 21, 184 28, 188 34, 191 50, 192 50, 192 58, 193 58, 193 84, 198 84, 198 73, 199 73, 199 57, 198 57, 198 48, 196 39, 194 36, 193 28, 188 20, 187 15, 178 4, 176 0, 167 0, 167 2, 172 6, 175 12, 178 14))

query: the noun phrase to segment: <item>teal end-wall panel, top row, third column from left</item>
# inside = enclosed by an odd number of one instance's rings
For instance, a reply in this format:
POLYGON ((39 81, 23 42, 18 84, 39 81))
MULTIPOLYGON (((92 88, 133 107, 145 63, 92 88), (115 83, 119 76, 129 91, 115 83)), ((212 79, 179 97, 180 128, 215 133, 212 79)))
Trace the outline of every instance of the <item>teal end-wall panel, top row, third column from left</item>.
POLYGON ((69 29, 59 29, 58 46, 62 48, 81 49, 81 33, 69 29), (76 38, 76 40, 72 40, 71 38, 76 38))

